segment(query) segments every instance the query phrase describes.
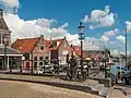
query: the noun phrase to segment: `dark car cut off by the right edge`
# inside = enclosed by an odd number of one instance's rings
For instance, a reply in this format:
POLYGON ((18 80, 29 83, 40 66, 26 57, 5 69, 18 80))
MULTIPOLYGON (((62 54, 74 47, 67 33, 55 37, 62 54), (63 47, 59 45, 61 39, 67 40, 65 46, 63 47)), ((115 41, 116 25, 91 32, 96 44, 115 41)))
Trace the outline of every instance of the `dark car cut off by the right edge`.
POLYGON ((131 70, 122 73, 121 81, 123 84, 131 84, 131 70))

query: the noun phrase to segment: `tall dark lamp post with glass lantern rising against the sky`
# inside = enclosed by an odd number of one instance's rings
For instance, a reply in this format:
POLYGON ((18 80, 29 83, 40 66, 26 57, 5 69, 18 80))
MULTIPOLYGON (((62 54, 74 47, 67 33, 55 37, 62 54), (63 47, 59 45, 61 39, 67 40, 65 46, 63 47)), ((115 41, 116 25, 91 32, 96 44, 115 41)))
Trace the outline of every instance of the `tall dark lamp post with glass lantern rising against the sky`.
POLYGON ((85 37, 83 37, 83 33, 84 33, 85 26, 83 26, 82 24, 83 23, 80 22, 78 29, 79 29, 80 40, 81 40, 81 74, 83 76, 84 75, 83 74, 83 39, 85 38, 85 37))

